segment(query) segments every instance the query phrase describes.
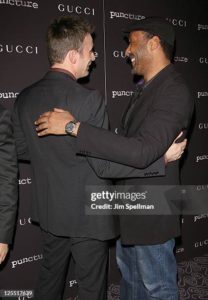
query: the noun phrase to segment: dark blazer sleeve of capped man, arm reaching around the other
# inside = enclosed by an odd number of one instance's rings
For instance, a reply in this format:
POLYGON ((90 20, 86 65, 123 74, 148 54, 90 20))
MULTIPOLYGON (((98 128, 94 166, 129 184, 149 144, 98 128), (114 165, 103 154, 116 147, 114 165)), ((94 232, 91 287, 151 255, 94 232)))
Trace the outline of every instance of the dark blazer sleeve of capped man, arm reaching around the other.
POLYGON ((187 88, 173 84, 163 89, 152 108, 149 122, 142 127, 137 138, 116 135, 107 129, 81 122, 76 151, 86 150, 93 157, 146 168, 162 157, 179 133, 188 127, 192 111, 187 88))

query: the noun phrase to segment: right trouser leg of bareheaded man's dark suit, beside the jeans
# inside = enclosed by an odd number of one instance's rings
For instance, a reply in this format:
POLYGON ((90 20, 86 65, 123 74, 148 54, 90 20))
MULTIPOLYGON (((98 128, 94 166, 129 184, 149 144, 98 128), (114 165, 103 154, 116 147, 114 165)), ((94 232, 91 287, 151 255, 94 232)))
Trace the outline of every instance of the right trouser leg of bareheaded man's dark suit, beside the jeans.
POLYGON ((79 300, 106 300, 108 242, 70 238, 79 300))

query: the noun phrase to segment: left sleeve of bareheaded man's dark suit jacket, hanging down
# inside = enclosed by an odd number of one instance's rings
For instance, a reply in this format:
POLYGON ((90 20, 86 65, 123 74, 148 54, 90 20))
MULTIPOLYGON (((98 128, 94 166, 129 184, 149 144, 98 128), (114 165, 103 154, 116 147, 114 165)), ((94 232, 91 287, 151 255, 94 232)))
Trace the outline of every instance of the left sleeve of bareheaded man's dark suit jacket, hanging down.
MULTIPOLYGON (((18 98, 17 98, 18 100, 18 98)), ((12 110, 12 123, 14 127, 14 136, 16 140, 16 147, 17 147, 17 156, 18 159, 23 160, 30 160, 29 150, 27 147, 26 138, 24 136, 23 128, 20 123, 18 117, 18 105, 17 100, 15 101, 13 110, 12 110)))

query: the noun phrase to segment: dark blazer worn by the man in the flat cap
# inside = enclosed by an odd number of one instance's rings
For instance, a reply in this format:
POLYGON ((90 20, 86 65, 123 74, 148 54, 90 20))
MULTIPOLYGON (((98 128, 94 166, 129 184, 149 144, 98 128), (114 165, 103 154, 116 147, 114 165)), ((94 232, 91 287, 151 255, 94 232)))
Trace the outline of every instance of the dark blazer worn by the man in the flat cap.
MULTIPOLYGON (((145 168, 160 158, 183 130, 186 135, 193 112, 193 101, 181 75, 172 64, 147 86, 126 125, 125 108, 118 135, 81 123, 76 151, 91 156, 145 168)), ((80 121, 82 121, 80 119, 80 121)), ((145 175, 145 174, 144 174, 145 175)), ((179 161, 168 163, 165 176, 132 178, 118 181, 122 185, 179 185, 179 161)), ((164 243, 180 235, 180 220, 175 215, 119 216, 123 244, 151 245, 164 243)))

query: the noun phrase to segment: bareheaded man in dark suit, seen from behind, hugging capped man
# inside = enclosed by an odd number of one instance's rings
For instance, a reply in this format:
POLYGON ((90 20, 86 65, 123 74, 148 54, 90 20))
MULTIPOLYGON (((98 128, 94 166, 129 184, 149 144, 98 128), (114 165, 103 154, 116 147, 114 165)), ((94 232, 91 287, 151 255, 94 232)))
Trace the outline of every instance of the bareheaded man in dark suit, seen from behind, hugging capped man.
MULTIPOLYGON (((99 178, 85 156, 75 155, 76 139, 70 136, 75 119, 66 127, 67 138, 38 138, 33 123, 41 112, 58 106, 91 125, 108 126, 101 93, 76 82, 88 75, 95 59, 93 27, 73 16, 61 17, 49 26, 47 53, 52 68, 19 94, 13 109, 18 157, 31 162, 31 217, 40 223, 44 243, 36 299, 62 299, 70 252, 79 299, 106 299, 107 240, 118 236, 119 229, 116 216, 85 214, 85 186, 109 185, 111 181, 99 178)), ((147 172, 164 175, 163 155, 147 172)), ((119 165, 114 175, 142 176, 143 170, 119 165)))

